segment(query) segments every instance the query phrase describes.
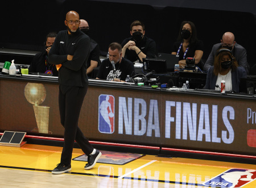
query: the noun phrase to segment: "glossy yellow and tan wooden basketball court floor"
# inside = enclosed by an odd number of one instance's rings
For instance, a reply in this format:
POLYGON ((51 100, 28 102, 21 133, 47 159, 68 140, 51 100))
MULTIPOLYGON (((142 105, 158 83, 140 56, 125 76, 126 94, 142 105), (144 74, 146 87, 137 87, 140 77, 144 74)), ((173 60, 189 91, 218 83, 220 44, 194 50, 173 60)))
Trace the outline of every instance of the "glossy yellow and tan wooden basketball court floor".
MULTIPOLYGON (((61 151, 61 147, 36 144, 0 146, 0 187, 256 187, 255 164, 198 160, 185 155, 172 158, 146 154, 113 164, 129 158, 130 153, 102 151, 102 160, 112 162, 97 162, 94 168, 85 170, 86 161, 72 160, 71 172, 52 174, 61 151)), ((72 158, 82 154, 81 149, 74 148, 72 158)))

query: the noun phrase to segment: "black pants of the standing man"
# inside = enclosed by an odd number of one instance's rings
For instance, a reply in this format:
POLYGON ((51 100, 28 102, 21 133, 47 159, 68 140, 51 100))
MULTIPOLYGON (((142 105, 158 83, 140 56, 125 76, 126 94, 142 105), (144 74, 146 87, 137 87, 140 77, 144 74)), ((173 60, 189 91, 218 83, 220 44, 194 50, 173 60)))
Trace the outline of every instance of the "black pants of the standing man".
POLYGON ((76 87, 60 85, 59 87, 60 122, 65 128, 64 147, 60 162, 65 165, 71 164, 75 140, 86 155, 89 155, 93 151, 92 145, 78 127, 80 110, 87 89, 88 86, 76 87))

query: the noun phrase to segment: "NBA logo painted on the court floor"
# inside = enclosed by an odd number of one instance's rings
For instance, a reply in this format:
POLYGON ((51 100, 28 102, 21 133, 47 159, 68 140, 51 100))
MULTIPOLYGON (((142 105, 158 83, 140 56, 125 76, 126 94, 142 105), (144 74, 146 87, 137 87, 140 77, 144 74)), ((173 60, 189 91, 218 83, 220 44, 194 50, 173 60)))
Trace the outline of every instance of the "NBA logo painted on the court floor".
POLYGON ((256 170, 229 169, 203 184, 205 186, 235 188, 242 187, 255 179, 256 170))

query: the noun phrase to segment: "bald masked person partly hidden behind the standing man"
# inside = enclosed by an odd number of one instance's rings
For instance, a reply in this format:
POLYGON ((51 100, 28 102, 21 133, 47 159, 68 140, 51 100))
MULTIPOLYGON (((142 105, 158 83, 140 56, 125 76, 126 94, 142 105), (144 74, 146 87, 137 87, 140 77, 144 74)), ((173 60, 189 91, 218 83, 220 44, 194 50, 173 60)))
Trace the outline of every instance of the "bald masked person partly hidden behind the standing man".
MULTIPOLYGON (((86 22, 86 20, 80 19, 79 28, 80 28, 80 31, 82 31, 85 35, 88 35, 90 37, 90 35, 89 35, 90 28, 89 28, 89 24, 88 24, 88 22, 86 22)), ((86 74, 89 78, 92 77, 93 69, 96 68, 97 66, 100 66, 100 64, 101 64, 100 47, 96 43, 96 41, 94 41, 90 37, 90 55, 87 60, 87 70, 86 70, 86 74)))

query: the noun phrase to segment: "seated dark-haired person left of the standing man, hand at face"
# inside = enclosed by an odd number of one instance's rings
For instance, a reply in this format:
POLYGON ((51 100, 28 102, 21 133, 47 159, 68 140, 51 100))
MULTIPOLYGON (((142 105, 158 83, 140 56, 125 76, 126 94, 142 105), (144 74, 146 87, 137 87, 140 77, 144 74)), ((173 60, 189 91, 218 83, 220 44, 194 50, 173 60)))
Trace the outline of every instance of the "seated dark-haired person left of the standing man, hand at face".
POLYGON ((42 52, 36 53, 35 57, 32 59, 28 72, 30 73, 46 73, 53 74, 53 76, 58 76, 56 66, 48 62, 48 53, 55 41, 57 34, 55 32, 50 32, 46 36, 46 41, 44 42, 44 49, 42 52))

